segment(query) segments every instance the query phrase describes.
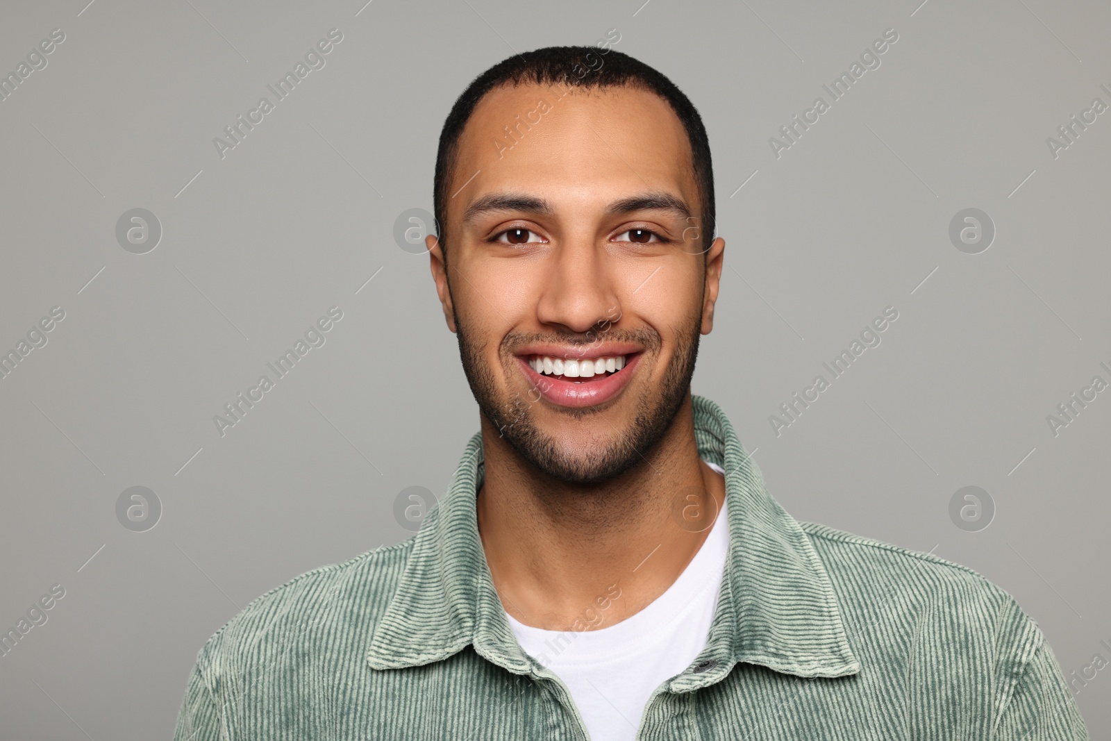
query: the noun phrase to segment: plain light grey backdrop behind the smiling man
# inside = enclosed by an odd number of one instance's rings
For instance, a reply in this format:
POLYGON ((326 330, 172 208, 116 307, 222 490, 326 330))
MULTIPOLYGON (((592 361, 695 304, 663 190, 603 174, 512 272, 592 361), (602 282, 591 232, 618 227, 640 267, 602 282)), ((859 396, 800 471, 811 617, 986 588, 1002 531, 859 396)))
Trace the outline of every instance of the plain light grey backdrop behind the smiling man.
MULTIPOLYGON (((611 28, 709 129, 727 268, 693 387, 772 494, 983 573, 1067 674, 1111 660, 1111 391, 1057 437, 1045 420, 1111 379, 1111 112, 1057 159, 1045 141, 1111 103, 1105 3, 86 1, 0 10, 0 72, 66 33, 0 102, 0 350, 66 311, 0 380, 0 629, 66 589, 0 658, 4 738, 167 738, 239 609, 409 537, 396 495, 443 493, 478 411, 394 219, 431 210, 476 74, 611 28), (326 67, 221 159, 331 28, 326 67), (777 159, 769 138, 888 28, 881 67, 777 159), (132 208, 162 226, 146 254, 116 240, 132 208), (948 237, 965 208, 997 228, 980 254, 948 237), (327 343, 221 438, 213 415, 332 306, 327 343), (777 437, 769 415, 888 306, 882 343, 777 437), (134 485, 162 504, 146 532, 116 515, 134 485), (980 532, 949 517, 965 485, 995 504, 980 532)), ((1078 695, 1093 738, 1109 701, 1103 670, 1078 695)))

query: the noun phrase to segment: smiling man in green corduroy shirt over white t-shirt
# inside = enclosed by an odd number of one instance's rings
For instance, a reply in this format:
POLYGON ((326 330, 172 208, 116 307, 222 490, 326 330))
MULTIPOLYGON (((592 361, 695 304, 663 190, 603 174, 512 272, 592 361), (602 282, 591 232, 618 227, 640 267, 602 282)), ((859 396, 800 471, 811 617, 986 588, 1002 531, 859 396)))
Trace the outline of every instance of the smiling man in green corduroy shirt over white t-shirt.
POLYGON ((667 78, 510 58, 452 108, 434 189, 481 431, 414 538, 209 640, 179 741, 1088 738, 1007 593, 798 523, 691 395, 724 241, 667 78))

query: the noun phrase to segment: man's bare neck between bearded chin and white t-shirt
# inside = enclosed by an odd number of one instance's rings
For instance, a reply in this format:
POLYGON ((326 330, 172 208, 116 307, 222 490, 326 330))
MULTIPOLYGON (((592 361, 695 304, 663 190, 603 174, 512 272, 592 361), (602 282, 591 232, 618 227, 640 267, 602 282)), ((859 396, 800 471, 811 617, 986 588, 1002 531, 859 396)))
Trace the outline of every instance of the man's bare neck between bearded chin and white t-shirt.
POLYGON ((653 449, 597 485, 540 471, 484 417, 482 449, 487 563, 506 611, 536 628, 597 630, 639 612, 694 558, 725 499, 724 479, 699 458, 690 393, 653 449), (704 517, 683 520, 693 511, 704 517))

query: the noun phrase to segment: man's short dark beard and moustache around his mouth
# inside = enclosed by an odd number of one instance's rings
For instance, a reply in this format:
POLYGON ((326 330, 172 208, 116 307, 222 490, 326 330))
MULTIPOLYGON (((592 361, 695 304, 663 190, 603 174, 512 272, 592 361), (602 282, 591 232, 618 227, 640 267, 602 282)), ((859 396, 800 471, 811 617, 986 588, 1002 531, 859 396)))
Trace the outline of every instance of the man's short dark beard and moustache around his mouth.
MULTIPOLYGON (((671 429, 683 401, 690 393, 694 361, 698 358, 701 321, 701 314, 697 314, 678 333, 675 354, 668 362, 660 385, 645 391, 644 398, 634 404, 637 414, 632 423, 624 430, 613 430, 618 432, 618 437, 610 442, 593 444, 592 441, 588 441, 589 450, 575 454, 563 450, 554 438, 544 433, 537 424, 532 410, 533 404, 541 403, 539 399, 532 401, 519 392, 499 394, 493 369, 487 366, 481 349, 471 342, 470 332, 456 314, 459 354, 479 410, 499 430, 506 442, 534 468, 554 479, 582 485, 603 483, 647 460, 645 453, 671 429)), ((659 332, 651 328, 641 330, 610 328, 604 336, 605 339, 619 342, 634 342, 644 348, 643 354, 647 357, 659 358, 662 347, 659 332)), ((502 371, 506 378, 519 372, 512 349, 522 347, 527 342, 559 342, 585 350, 598 342, 598 333, 593 331, 582 334, 512 332, 506 336, 499 348, 502 371)), ((641 368, 640 364, 638 368, 641 368)), ((642 370, 647 371, 647 366, 642 370)), ((599 408, 560 408, 560 413, 581 420, 599 414, 605 408, 604 403, 599 408)))

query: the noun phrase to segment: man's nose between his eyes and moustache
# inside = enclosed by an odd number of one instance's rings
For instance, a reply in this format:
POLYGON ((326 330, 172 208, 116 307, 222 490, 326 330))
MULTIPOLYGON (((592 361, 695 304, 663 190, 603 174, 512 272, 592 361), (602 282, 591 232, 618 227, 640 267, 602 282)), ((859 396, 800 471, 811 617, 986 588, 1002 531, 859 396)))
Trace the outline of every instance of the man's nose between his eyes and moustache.
POLYGON ((613 281, 618 266, 603 248, 588 238, 569 240, 552 250, 549 259, 548 279, 537 303, 541 323, 587 332, 621 316, 613 281))

